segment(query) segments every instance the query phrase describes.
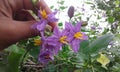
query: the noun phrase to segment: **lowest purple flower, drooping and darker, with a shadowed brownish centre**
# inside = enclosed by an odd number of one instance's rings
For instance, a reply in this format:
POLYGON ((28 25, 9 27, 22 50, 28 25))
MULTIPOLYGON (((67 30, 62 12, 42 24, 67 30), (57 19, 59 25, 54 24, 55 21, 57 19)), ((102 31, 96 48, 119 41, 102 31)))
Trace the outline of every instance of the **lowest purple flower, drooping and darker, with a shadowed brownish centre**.
POLYGON ((55 47, 52 45, 48 45, 47 37, 45 36, 42 36, 41 41, 42 41, 42 46, 40 49, 38 60, 42 64, 47 64, 49 61, 54 60, 55 47))

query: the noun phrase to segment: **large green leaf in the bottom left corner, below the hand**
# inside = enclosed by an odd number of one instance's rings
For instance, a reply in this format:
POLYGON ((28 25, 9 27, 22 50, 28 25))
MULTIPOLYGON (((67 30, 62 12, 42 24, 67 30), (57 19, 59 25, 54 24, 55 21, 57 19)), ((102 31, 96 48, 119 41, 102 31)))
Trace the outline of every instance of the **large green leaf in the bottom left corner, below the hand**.
POLYGON ((7 72, 19 72, 19 63, 25 50, 17 45, 9 47, 10 54, 8 56, 7 72))

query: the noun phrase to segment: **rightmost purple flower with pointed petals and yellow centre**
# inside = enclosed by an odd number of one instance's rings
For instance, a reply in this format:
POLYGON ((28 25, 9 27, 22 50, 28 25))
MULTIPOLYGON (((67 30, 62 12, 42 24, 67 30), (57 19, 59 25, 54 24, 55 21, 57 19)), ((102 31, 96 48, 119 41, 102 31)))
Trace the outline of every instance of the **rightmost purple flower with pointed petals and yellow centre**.
POLYGON ((79 46, 80 42, 82 40, 88 39, 88 36, 85 33, 80 32, 81 24, 82 24, 82 22, 79 22, 76 24, 76 26, 73 26, 71 23, 68 23, 68 22, 65 23, 67 30, 70 31, 68 40, 70 41, 72 50, 75 53, 78 52, 78 50, 80 48, 80 46, 79 46))

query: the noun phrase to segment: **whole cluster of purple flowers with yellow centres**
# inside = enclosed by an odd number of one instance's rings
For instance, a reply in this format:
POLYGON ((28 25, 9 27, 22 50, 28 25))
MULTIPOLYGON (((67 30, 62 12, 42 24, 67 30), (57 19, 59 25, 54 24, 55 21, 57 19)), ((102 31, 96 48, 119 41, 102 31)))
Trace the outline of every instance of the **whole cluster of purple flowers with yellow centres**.
POLYGON ((72 50, 77 53, 80 48, 80 42, 88 39, 87 35, 80 31, 82 22, 78 22, 75 26, 65 22, 65 29, 61 31, 58 27, 55 27, 51 36, 45 36, 44 29, 46 24, 58 20, 55 18, 55 14, 56 12, 47 15, 43 10, 38 15, 41 20, 33 25, 33 28, 41 33, 41 40, 35 41, 37 42, 35 45, 41 44, 39 61, 43 64, 54 60, 54 56, 62 50, 63 45, 70 45, 72 50))

